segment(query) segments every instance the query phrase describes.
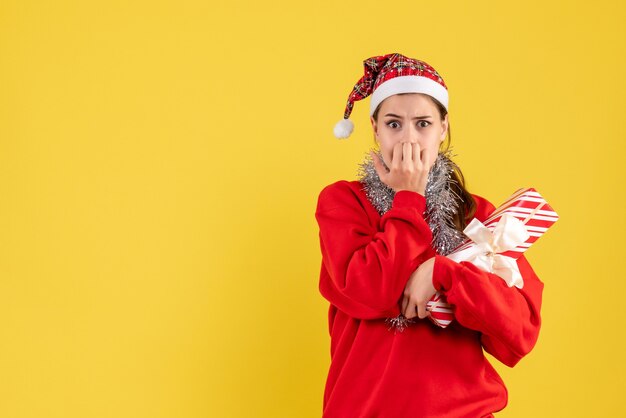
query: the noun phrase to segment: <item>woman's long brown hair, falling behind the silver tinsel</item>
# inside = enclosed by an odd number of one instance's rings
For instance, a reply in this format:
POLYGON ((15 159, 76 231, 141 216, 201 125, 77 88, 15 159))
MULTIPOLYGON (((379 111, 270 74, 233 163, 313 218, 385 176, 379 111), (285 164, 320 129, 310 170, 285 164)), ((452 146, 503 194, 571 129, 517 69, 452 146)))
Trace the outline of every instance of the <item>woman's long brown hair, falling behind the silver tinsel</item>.
MULTIPOLYGON (((437 109, 439 109, 439 116, 441 117, 441 120, 443 120, 443 118, 445 118, 448 114, 446 108, 443 107, 443 105, 432 96, 425 96, 428 97, 435 104, 435 106, 437 106, 437 109)), ((378 111, 380 110, 381 105, 382 102, 378 105, 378 107, 374 111, 374 114, 372 115, 376 123, 378 123, 378 111)), ((448 132, 446 135, 446 140, 442 143, 445 143, 445 146, 443 149, 440 149, 439 152, 446 152, 450 149, 450 143, 452 142, 452 132, 450 129, 450 121, 448 120, 448 132)), ((374 137, 374 142, 376 142, 376 137, 374 137)), ((461 169, 456 164, 454 164, 454 166, 455 168, 452 171, 451 176, 455 183, 453 183, 452 187, 456 195, 459 197, 457 203, 460 210, 454 215, 453 222, 455 228, 459 232, 463 232, 463 230, 467 226, 467 221, 472 219, 474 217, 474 214, 476 213, 476 201, 474 201, 474 197, 465 187, 465 177, 463 176, 461 169)))

